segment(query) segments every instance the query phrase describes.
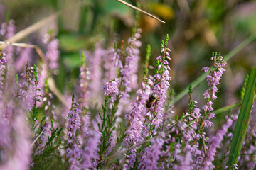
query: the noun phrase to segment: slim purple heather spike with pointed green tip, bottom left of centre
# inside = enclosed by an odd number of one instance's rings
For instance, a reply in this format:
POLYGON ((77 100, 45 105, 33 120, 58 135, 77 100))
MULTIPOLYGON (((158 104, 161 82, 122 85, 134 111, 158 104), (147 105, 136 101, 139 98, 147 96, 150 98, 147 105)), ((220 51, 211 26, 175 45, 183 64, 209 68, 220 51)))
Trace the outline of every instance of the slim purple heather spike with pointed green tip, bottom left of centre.
POLYGON ((81 111, 78 109, 77 103, 72 103, 72 107, 68 112, 68 149, 66 149, 66 156, 69 157, 70 169, 79 169, 81 150, 78 143, 77 132, 80 130, 81 122, 79 114, 81 111))

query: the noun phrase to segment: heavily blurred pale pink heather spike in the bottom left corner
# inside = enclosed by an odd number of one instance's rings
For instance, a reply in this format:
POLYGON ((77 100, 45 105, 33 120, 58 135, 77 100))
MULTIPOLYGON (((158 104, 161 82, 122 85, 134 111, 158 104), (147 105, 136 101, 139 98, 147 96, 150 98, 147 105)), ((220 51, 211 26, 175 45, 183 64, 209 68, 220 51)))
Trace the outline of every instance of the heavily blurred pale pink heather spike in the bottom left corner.
MULTIPOLYGON (((31 163, 30 130, 26 124, 23 107, 16 107, 14 110, 16 114, 9 124, 9 130, 1 129, 1 138, 4 139, 4 142, 0 141, 2 142, 1 147, 4 148, 4 152, 1 153, 4 155, 1 155, 1 159, 4 160, 0 164, 0 169, 26 170, 31 163)), ((3 124, 1 123, 1 125, 3 124)))

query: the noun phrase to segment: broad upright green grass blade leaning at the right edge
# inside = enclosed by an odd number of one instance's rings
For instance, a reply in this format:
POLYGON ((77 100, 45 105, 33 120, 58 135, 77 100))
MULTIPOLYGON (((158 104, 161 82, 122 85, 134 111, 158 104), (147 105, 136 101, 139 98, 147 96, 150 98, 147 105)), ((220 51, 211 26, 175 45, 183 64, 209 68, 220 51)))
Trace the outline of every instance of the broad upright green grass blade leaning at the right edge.
POLYGON ((242 142, 244 140, 245 132, 250 120, 250 113, 252 110, 252 103, 255 94, 255 85, 256 66, 252 68, 252 72, 250 73, 249 81, 247 82, 245 89, 245 96, 242 100, 242 106, 238 115, 238 120, 235 124, 235 130, 231 141, 230 156, 227 162, 228 166, 237 164, 238 162, 238 154, 240 154, 242 142))

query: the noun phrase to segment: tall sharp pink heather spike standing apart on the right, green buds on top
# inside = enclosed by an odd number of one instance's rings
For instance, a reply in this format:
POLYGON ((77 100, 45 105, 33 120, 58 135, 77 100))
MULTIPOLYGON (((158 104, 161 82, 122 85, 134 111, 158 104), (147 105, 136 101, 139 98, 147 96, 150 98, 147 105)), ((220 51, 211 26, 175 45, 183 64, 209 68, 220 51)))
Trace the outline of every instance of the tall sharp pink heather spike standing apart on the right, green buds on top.
MULTIPOLYGON (((210 69, 209 67, 203 67, 204 72, 208 72, 208 75, 206 76, 206 80, 208 82, 209 88, 204 92, 203 96, 204 98, 207 98, 208 101, 206 105, 203 106, 204 111, 213 111, 213 101, 217 98, 215 95, 216 92, 218 92, 217 85, 220 84, 220 79, 222 77, 223 72, 225 69, 225 65, 227 64, 222 56, 213 55, 211 57, 211 60, 214 61, 213 68, 210 69)), ((209 119, 213 118, 214 115, 210 114, 209 119)))

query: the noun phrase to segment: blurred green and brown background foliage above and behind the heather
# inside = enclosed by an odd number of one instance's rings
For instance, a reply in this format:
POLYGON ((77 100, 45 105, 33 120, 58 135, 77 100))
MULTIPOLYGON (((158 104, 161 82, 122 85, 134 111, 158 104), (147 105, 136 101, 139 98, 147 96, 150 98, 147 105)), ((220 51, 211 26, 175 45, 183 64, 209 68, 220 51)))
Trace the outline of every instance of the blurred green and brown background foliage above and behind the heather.
MULTIPOLYGON (((171 86, 178 93, 202 74, 201 68, 212 64, 211 52, 226 55, 256 31, 256 1, 249 0, 126 0, 166 21, 166 24, 138 14, 115 0, 2 0, 6 15, 0 20, 14 19, 17 31, 40 21, 50 14, 63 11, 58 21, 48 24, 26 40, 41 45, 43 35, 53 29, 60 40, 60 69, 55 77, 61 91, 72 89, 78 82, 80 50, 93 51, 95 43, 102 47, 114 42, 127 43, 135 26, 142 28, 141 65, 146 45, 151 45, 150 64, 155 66, 160 42, 170 35, 171 86), (64 84, 68 82, 68 86, 64 84)), ((124 44, 125 45, 125 44, 124 44)), ((215 108, 240 100, 240 87, 245 74, 256 63, 256 42, 250 43, 228 62, 221 93, 215 108)), ((144 70, 139 67, 139 77, 144 70)), ((151 70, 154 74, 154 70, 151 70)), ((206 82, 193 92, 196 101, 203 100, 206 82)), ((186 111, 188 97, 176 103, 178 113, 186 111)), ((201 106, 199 106, 201 107, 201 106)), ((220 116, 222 118, 222 116, 220 116)))

